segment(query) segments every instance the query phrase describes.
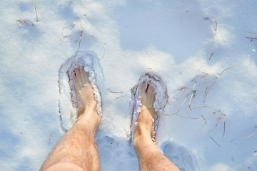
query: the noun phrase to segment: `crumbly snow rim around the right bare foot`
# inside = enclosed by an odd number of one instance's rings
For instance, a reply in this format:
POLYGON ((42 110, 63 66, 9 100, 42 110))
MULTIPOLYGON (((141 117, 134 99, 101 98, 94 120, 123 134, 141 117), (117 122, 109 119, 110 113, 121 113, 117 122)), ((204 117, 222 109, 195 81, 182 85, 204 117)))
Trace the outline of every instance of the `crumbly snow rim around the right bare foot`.
POLYGON ((131 140, 133 138, 133 132, 136 128, 136 121, 138 119, 138 115, 142 110, 142 103, 146 106, 146 108, 150 108, 150 110, 151 108, 153 108, 153 110, 150 111, 150 113, 154 119, 154 128, 153 133, 151 135, 151 137, 154 140, 156 138, 158 122, 161 118, 161 115, 163 114, 163 108, 168 102, 168 93, 166 85, 165 83, 163 83, 161 78, 156 74, 145 73, 139 78, 139 81, 136 84, 136 86, 132 88, 131 94, 131 140), (150 90, 151 92, 148 92, 147 95, 147 93, 145 92, 149 91, 148 88, 151 88, 152 90, 150 90), (155 95, 152 95, 152 93, 155 93, 155 95), (142 100, 142 97, 144 98, 144 101, 142 100))

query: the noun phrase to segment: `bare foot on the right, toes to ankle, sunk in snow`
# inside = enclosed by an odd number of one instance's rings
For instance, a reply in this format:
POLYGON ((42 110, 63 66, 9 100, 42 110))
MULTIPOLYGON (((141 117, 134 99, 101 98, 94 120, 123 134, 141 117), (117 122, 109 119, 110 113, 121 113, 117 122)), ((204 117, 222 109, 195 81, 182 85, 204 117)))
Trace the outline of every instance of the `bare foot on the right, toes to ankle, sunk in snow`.
POLYGON ((141 140, 152 141, 154 131, 154 118, 155 111, 153 103, 155 100, 155 89, 148 83, 142 83, 141 85, 141 112, 138 115, 137 124, 133 133, 133 144, 137 144, 141 140), (143 138, 143 139, 142 139, 143 138))

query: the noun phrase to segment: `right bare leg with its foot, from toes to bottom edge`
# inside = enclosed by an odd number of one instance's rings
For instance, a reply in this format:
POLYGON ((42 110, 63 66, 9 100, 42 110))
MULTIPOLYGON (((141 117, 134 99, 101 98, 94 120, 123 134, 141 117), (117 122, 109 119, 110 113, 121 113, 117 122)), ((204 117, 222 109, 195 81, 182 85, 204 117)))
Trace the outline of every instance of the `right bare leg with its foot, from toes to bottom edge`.
POLYGON ((154 88, 143 83, 141 96, 141 113, 139 113, 136 129, 133 133, 133 147, 138 157, 140 170, 179 171, 178 167, 163 155, 152 141, 154 129, 153 116, 155 115, 153 110, 153 102, 155 100, 154 88))

